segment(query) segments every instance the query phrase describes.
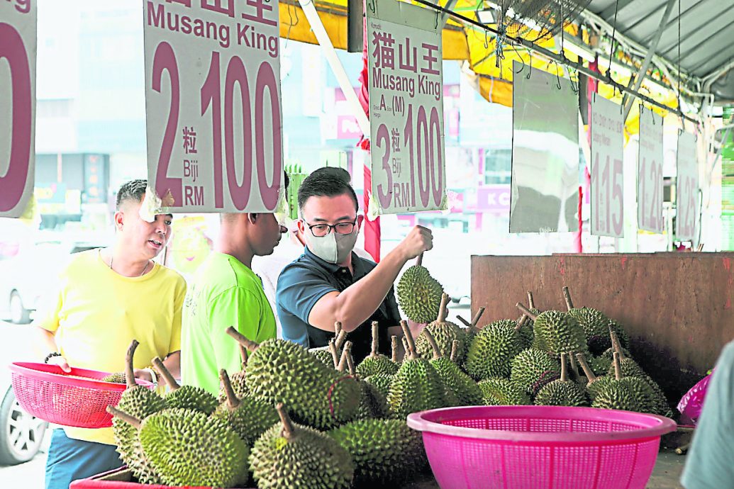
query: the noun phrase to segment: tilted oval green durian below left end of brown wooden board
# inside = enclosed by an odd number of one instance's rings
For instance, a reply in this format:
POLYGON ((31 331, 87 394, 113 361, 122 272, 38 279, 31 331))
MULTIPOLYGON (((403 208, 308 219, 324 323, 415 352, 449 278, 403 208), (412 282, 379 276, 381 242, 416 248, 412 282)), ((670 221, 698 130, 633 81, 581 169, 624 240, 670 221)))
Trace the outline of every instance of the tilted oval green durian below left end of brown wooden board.
POLYGON ((469 345, 464 361, 466 372, 476 380, 508 377, 512 359, 523 349, 517 328, 514 320, 499 320, 484 326, 469 345))

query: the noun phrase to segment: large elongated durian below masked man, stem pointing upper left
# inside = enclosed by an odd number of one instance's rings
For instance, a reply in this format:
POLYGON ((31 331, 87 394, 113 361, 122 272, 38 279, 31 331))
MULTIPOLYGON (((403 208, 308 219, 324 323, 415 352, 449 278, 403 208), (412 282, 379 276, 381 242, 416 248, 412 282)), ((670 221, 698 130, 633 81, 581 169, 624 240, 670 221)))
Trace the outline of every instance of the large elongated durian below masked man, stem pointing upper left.
POLYGON ((245 381, 252 397, 275 405, 288 402, 299 422, 327 430, 357 415, 357 380, 327 367, 308 350, 284 339, 258 345, 234 328, 227 334, 250 350, 245 381))

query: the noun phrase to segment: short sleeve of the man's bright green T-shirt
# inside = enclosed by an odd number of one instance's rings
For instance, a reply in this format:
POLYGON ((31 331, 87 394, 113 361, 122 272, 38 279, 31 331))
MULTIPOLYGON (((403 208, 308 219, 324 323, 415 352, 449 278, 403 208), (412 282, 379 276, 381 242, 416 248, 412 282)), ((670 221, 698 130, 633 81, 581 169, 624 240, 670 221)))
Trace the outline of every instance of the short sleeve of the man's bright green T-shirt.
POLYGON ((258 296, 244 287, 231 287, 211 301, 209 325, 217 359, 217 369, 228 373, 241 370, 239 348, 225 329, 234 326, 237 331, 252 341, 258 341, 263 308, 258 296))

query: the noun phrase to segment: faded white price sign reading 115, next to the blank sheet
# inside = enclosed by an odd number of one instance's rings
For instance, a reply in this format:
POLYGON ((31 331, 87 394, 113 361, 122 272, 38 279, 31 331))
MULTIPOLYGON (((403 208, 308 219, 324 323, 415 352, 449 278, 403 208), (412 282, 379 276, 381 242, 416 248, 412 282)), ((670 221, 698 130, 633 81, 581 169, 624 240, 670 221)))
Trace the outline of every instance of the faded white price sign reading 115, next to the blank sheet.
POLYGON ((592 235, 624 236, 624 177, 621 106, 592 99, 592 235))

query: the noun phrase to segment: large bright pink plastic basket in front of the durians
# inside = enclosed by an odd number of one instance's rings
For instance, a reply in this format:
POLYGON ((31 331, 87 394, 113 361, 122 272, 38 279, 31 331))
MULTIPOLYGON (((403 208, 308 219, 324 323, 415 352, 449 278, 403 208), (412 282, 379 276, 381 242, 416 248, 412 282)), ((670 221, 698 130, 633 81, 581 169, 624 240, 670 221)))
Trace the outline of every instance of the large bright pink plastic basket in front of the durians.
POLYGON ((556 406, 444 408, 408 416, 442 489, 643 489, 672 419, 556 406))

